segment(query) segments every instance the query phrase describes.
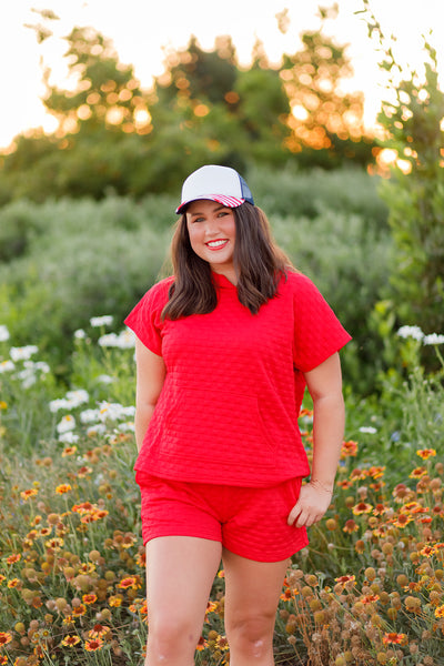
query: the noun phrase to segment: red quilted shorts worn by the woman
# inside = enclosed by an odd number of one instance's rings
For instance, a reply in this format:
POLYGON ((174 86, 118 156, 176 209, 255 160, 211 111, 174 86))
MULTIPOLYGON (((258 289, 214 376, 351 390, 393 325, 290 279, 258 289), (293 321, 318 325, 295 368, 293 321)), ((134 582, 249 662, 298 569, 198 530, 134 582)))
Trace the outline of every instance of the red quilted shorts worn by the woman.
POLYGON ((271 487, 169 481, 135 473, 142 500, 142 535, 219 541, 242 557, 280 562, 307 545, 305 527, 289 526, 302 478, 271 487))

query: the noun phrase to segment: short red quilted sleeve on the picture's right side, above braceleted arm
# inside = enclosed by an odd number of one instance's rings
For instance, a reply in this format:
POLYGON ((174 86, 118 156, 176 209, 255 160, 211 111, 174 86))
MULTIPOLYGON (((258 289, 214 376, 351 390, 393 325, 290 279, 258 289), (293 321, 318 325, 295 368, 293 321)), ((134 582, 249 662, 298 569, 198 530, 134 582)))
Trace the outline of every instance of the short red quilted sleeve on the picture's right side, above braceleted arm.
POLYGON ((310 372, 352 340, 317 287, 305 275, 294 280, 294 365, 310 372))

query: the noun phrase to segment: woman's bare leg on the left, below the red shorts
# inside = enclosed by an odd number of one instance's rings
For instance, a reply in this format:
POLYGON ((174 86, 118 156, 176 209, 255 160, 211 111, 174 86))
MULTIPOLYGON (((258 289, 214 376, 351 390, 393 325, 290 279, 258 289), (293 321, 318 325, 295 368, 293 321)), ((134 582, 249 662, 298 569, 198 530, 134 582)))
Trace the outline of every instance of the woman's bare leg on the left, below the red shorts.
POLYGON ((222 546, 192 536, 147 544, 145 666, 192 666, 222 546))

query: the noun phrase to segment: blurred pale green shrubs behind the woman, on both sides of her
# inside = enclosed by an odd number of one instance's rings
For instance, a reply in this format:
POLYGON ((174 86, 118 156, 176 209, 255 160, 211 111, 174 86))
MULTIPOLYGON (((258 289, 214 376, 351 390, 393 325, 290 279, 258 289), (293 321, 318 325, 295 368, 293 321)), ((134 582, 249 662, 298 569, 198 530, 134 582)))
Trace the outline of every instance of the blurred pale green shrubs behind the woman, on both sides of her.
MULTIPOLYGON (((353 335, 344 352, 345 376, 356 389, 372 391, 383 359, 369 313, 385 286, 391 250, 377 180, 360 170, 256 167, 248 182, 278 242, 353 335)), ((19 344, 38 339, 65 376, 72 332, 98 314, 123 321, 161 273, 178 201, 179 189, 176 196, 139 202, 110 195, 100 202, 18 201, 1 209, 0 321, 19 344)))

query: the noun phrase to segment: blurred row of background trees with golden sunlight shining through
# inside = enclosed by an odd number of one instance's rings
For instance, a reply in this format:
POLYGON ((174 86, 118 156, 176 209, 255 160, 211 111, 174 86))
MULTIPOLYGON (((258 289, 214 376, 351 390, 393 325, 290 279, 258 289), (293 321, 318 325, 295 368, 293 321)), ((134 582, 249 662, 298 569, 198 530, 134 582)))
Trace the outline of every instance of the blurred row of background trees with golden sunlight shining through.
MULTIPOLYGON (((57 20, 41 13, 47 23, 57 20)), ((40 42, 51 39, 49 29, 34 29, 40 42)), ((167 54, 164 73, 147 91, 105 37, 74 28, 65 37, 72 88, 51 85, 48 69, 43 74, 44 104, 58 129, 16 138, 13 152, 1 158, 0 204, 168 192, 203 162, 241 170, 367 164, 374 142, 362 123, 362 94, 341 87, 352 74, 346 47, 322 27, 301 40, 280 65, 258 42, 251 64, 241 68, 229 37, 210 51, 191 37, 186 49, 167 54)))

